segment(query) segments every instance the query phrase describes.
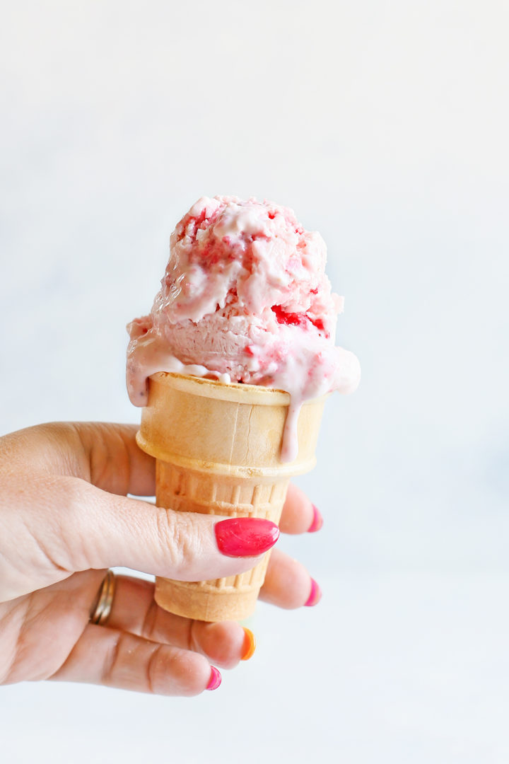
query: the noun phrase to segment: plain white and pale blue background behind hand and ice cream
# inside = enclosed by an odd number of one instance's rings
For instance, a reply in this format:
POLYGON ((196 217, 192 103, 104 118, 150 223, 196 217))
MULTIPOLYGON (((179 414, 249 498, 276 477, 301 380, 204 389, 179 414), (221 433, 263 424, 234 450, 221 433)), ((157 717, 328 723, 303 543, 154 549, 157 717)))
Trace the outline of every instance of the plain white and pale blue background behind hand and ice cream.
POLYGON ((281 544, 321 604, 206 697, 2 688, 5 760, 507 762, 507 4, 2 5, 0 432, 137 420, 124 325, 204 194, 321 231, 363 370, 281 544))

